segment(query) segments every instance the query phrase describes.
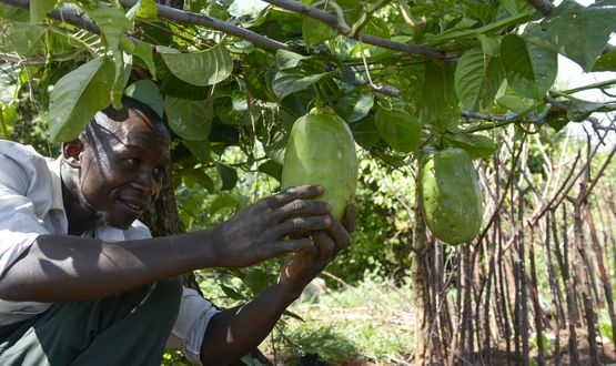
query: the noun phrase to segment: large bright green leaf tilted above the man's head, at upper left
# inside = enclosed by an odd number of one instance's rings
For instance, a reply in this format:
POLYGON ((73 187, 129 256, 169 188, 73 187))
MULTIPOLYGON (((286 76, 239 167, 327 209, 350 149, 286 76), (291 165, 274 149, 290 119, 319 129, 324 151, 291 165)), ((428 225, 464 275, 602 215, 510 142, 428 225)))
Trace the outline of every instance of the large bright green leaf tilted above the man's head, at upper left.
POLYGON ((113 62, 97 58, 55 83, 48 116, 52 141, 75 138, 98 111, 110 104, 114 75, 113 62))

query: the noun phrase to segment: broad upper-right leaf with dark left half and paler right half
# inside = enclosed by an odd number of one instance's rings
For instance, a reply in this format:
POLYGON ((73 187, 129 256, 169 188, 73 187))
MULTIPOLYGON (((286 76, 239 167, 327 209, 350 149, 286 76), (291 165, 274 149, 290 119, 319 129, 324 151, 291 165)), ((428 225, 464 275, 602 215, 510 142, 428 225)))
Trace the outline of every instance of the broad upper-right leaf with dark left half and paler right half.
POLYGON ((509 85, 523 96, 541 100, 556 80, 557 54, 519 35, 503 39, 501 59, 509 85))

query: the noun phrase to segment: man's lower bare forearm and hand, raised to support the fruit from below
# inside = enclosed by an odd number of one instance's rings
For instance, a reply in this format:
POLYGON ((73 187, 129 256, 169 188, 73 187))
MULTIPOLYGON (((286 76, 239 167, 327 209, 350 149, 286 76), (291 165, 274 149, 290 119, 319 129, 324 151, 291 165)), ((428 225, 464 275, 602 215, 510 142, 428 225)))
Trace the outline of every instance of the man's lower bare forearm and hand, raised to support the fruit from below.
POLYGON ((279 281, 253 301, 212 317, 201 346, 204 365, 226 365, 248 354, 272 332, 303 288, 349 244, 354 207, 347 207, 345 227, 335 220, 325 231, 312 233, 315 245, 290 256, 279 281))

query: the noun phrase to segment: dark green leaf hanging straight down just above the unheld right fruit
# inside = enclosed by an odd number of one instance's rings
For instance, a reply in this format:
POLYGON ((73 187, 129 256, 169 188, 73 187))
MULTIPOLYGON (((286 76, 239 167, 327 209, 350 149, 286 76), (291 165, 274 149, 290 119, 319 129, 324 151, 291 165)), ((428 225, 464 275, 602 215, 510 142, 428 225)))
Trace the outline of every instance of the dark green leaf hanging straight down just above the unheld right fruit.
POLYGON ((455 63, 427 62, 423 82, 421 119, 434 132, 457 125, 460 108, 455 93, 455 63))

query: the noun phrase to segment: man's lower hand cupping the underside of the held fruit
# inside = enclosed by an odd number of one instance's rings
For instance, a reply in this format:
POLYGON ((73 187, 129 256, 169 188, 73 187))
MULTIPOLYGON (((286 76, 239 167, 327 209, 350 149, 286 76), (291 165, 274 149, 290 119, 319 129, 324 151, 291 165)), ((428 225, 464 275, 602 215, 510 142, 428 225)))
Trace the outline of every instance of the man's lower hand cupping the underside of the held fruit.
POLYGON ((332 218, 332 225, 324 231, 310 233, 315 245, 293 253, 284 263, 279 276, 279 285, 294 296, 332 262, 340 251, 349 245, 349 233, 355 228, 355 206, 346 206, 344 225, 332 218))

